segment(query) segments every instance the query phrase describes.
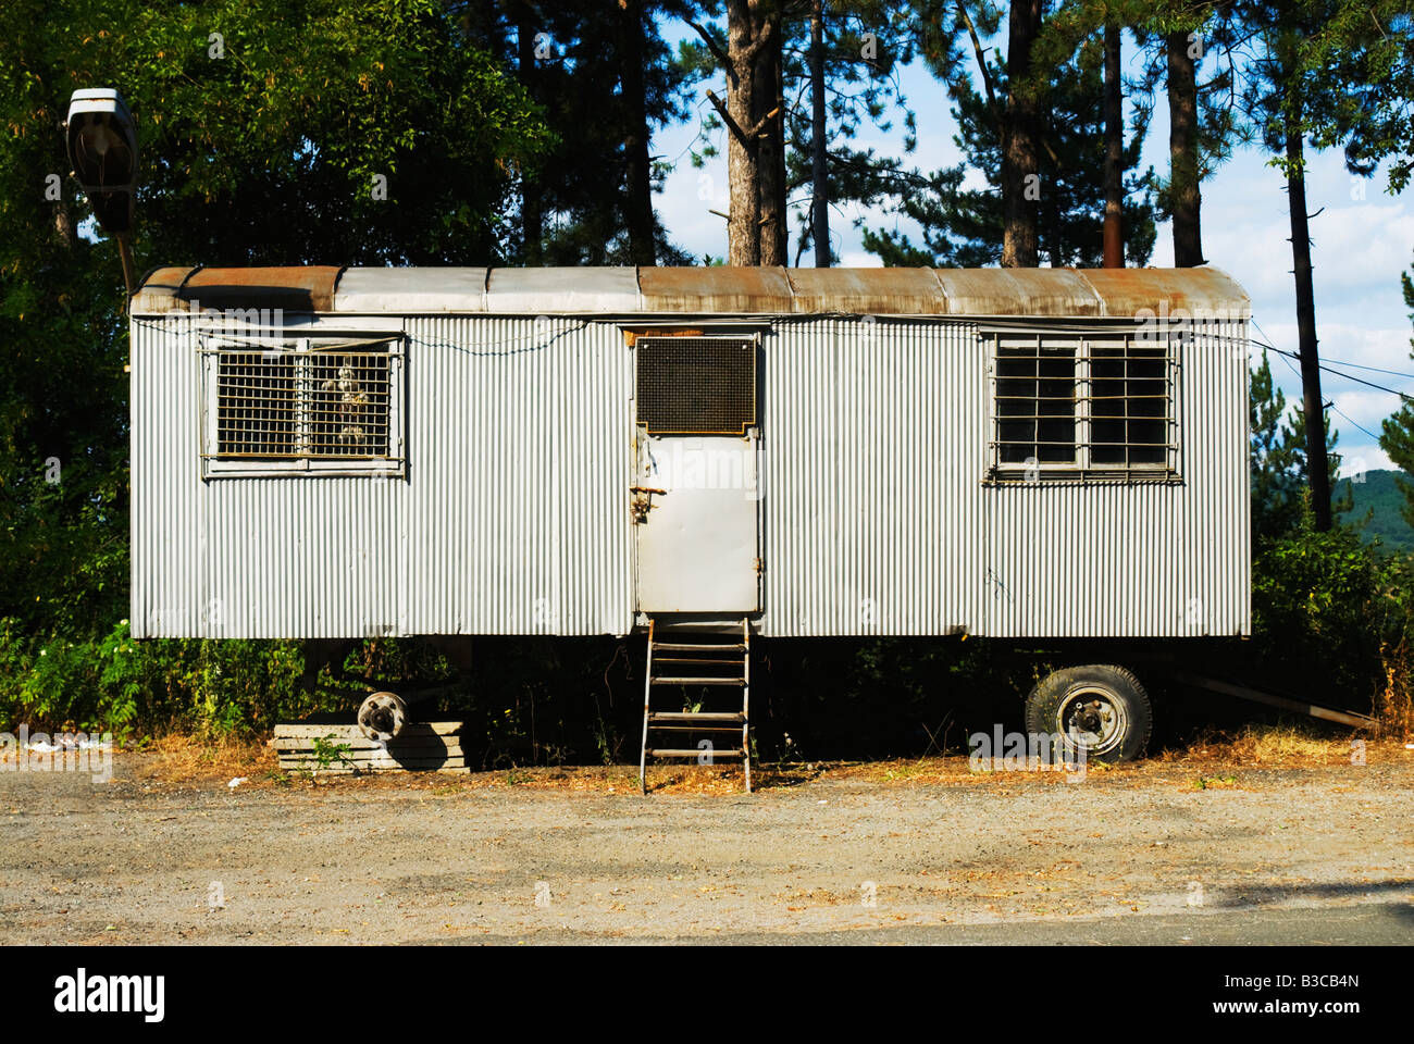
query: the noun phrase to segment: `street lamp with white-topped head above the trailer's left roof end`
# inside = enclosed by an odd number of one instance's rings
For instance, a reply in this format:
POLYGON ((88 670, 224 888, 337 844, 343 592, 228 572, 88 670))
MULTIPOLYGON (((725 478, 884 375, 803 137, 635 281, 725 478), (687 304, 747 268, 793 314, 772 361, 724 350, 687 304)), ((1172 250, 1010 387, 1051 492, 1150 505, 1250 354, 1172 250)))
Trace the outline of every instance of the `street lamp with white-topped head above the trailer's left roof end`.
POLYGON ((133 198, 137 194, 137 129, 123 96, 112 88, 75 91, 69 98, 68 150, 74 177, 93 205, 99 226, 117 239, 123 282, 133 293, 133 198))

